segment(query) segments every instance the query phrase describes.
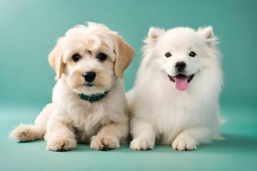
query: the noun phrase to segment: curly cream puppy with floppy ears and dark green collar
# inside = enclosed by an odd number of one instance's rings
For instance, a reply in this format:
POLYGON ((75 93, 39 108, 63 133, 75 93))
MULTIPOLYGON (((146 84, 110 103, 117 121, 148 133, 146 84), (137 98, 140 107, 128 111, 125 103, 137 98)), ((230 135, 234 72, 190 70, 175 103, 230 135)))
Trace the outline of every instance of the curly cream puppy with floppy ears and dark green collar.
POLYGON ((94 150, 119 147, 129 134, 129 116, 122 78, 134 51, 118 33, 102 24, 75 26, 59 38, 49 54, 56 71, 53 103, 35 125, 19 125, 11 137, 45 139, 46 150, 66 151, 77 142, 94 150))

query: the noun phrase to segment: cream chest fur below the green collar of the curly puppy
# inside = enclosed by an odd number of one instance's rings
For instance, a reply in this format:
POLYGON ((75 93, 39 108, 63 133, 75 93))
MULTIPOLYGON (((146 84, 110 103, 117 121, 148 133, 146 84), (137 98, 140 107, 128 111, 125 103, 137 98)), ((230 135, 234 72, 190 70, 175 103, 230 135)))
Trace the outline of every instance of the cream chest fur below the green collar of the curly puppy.
POLYGON ((116 81, 105 98, 89 103, 79 98, 79 95, 66 85, 64 79, 60 80, 53 90, 55 111, 51 117, 62 120, 74 129, 78 142, 90 142, 90 138, 96 135, 100 128, 116 121, 113 119, 115 115, 124 113, 124 105, 116 107, 116 111, 119 111, 117 113, 111 110, 114 100, 117 101, 116 104, 122 104, 124 101, 124 97, 114 98, 115 92, 121 90, 124 90, 123 85, 116 81))

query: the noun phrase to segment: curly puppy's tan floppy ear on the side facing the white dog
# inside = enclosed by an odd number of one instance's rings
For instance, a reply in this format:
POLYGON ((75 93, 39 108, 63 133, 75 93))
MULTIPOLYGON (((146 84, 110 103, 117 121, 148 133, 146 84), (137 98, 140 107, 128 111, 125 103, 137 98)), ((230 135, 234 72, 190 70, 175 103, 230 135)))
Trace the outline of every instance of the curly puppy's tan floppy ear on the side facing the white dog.
POLYGON ((116 39, 116 47, 114 48, 114 52, 116 53, 114 72, 119 78, 124 78, 124 71, 131 63, 135 52, 121 36, 119 36, 116 32, 112 33, 116 39))

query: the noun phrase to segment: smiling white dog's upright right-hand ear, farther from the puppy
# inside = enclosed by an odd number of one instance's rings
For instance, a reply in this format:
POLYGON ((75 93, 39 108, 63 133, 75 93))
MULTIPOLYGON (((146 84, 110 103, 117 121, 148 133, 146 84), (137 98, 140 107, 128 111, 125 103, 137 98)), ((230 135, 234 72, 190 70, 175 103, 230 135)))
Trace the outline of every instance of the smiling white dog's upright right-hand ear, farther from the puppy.
POLYGON ((212 47, 218 43, 218 38, 214 35, 212 26, 198 28, 197 32, 203 36, 204 43, 206 43, 209 47, 212 47))

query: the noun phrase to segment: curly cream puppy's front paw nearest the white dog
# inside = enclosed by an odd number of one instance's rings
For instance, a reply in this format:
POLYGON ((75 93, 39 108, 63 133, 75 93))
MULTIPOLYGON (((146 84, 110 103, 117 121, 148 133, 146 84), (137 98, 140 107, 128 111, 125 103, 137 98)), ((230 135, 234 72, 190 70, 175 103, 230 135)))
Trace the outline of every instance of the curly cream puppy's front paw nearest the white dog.
POLYGON ((93 150, 111 150, 119 148, 119 139, 114 137, 93 136, 91 138, 90 148, 93 150))

